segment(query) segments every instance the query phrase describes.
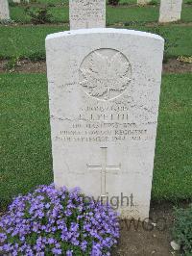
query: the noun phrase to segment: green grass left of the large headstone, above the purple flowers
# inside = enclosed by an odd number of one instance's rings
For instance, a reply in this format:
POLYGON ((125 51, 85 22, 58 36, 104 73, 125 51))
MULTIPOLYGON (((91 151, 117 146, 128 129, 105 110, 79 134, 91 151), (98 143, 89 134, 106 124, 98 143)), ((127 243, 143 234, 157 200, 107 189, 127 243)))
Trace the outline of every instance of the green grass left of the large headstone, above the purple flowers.
POLYGON ((50 127, 44 75, 1 75, 0 210, 12 195, 49 184, 50 127))

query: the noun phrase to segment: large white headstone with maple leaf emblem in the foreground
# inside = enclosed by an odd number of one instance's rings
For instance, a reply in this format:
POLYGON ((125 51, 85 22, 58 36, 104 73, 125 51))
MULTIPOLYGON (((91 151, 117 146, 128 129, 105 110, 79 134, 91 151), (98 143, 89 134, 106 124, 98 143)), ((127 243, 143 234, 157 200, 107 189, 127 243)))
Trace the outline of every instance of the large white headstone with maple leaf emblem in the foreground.
POLYGON ((144 32, 46 38, 57 188, 80 187, 122 218, 148 217, 162 57, 163 39, 144 32))

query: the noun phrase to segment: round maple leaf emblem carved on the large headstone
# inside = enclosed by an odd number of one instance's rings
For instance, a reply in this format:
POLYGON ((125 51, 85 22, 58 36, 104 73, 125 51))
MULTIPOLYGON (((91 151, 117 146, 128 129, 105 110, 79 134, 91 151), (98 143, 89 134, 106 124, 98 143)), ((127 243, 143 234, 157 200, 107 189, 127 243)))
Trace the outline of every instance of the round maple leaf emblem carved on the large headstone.
POLYGON ((80 68, 86 93, 108 100, 120 95, 131 82, 131 65, 126 57, 113 49, 100 49, 84 59, 80 68), (105 50, 110 54, 105 54, 105 50))

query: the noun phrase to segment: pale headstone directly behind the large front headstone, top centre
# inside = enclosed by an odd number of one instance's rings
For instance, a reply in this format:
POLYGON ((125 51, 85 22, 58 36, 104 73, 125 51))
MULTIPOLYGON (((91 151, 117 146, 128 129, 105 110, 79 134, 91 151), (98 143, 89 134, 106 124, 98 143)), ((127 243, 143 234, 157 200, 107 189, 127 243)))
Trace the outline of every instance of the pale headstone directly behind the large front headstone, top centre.
POLYGON ((70 0, 70 29, 106 27, 106 0, 70 0))

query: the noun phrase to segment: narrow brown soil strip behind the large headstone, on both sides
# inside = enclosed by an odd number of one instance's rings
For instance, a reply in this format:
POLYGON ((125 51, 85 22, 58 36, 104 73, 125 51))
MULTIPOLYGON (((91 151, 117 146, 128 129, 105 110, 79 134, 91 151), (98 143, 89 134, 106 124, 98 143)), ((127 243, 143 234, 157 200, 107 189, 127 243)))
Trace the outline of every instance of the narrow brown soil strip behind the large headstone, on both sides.
MULTIPOLYGON (((46 73, 46 63, 44 61, 31 62, 23 60, 17 63, 11 70, 6 69, 8 61, 0 61, 0 73, 46 73)), ((163 73, 191 73, 192 64, 180 63, 178 60, 170 59, 168 63, 163 64, 163 73)))

